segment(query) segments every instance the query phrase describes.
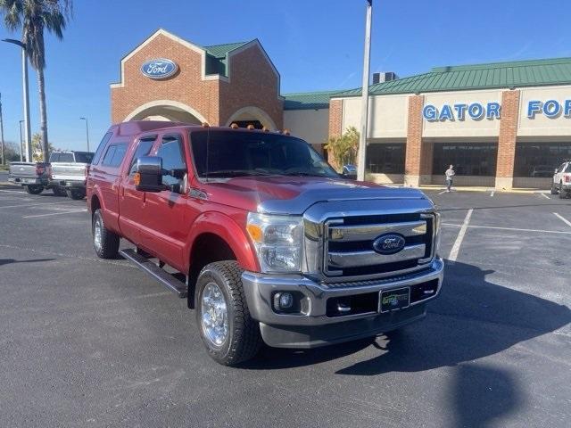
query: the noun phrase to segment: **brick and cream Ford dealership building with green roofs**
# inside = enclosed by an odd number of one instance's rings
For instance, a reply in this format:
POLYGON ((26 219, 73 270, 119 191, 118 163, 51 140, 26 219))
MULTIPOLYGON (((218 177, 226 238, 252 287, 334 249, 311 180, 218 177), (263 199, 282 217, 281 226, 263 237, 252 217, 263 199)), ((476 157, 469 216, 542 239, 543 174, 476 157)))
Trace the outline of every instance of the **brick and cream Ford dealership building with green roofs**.
MULTIPOLYGON (((255 39, 200 46, 157 30, 120 62, 112 121, 208 122, 287 128, 324 152, 329 136, 360 128, 360 88, 285 94, 255 39)), ((498 189, 550 185, 571 159, 571 58, 437 67, 369 87, 368 179, 498 189)))

